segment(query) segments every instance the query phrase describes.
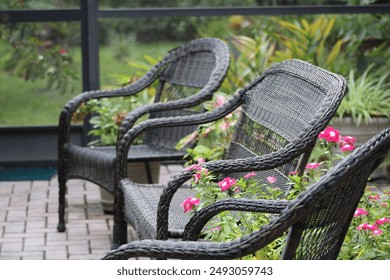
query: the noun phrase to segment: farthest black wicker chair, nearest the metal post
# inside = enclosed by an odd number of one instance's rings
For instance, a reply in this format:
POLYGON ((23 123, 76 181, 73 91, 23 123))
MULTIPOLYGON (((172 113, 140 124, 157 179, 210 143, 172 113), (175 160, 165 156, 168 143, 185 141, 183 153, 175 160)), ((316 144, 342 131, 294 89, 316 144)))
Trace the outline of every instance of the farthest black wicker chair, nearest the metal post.
MULTIPOLYGON (((134 122, 148 114, 150 119, 168 116, 195 115, 201 103, 212 98, 222 84, 230 64, 227 45, 215 38, 203 38, 170 51, 163 60, 136 82, 119 89, 82 93, 64 107, 59 120, 58 231, 65 231, 65 194, 68 179, 84 179, 113 192, 115 184, 116 148, 80 147, 70 141, 72 114, 83 103, 103 97, 131 96, 152 85, 157 86, 155 102, 138 108, 122 122, 118 142, 134 122), (156 85, 156 83, 158 83, 156 85)), ((133 146, 126 162, 182 160, 183 151, 174 147, 179 139, 195 127, 155 130, 144 137, 143 145, 133 146)), ((150 179, 150 177, 149 177, 150 179)))

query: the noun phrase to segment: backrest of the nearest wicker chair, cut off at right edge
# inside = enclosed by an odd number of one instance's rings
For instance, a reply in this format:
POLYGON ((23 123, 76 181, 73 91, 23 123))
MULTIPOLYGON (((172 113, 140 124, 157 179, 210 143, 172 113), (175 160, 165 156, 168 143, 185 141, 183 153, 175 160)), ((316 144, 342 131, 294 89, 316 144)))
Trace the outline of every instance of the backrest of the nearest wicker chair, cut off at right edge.
POLYGON ((340 162, 281 213, 292 225, 284 259, 336 259, 371 172, 390 149, 390 128, 340 162))

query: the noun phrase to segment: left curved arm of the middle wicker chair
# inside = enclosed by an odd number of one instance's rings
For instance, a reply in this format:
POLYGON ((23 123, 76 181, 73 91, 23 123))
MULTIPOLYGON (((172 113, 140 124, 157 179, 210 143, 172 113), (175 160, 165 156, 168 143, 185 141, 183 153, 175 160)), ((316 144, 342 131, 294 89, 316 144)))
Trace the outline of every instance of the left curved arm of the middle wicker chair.
MULTIPOLYGON (((167 118, 158 118, 152 119, 142 122, 141 124, 133 127, 129 131, 127 131, 119 144, 117 145, 117 176, 118 178, 124 178, 127 176, 127 154, 129 152, 130 146, 132 145, 134 139, 144 133, 146 130, 151 130, 154 128, 162 128, 162 127, 178 127, 178 126, 191 126, 209 123, 212 121, 216 121, 221 119, 222 117, 230 114, 236 108, 238 108, 242 104, 241 96, 239 94, 235 94, 232 98, 230 98, 224 105, 201 114, 191 115, 191 116, 180 116, 180 117, 167 117, 167 118)), ((162 106, 163 108, 167 108, 166 106, 171 106, 172 102, 159 103, 153 106, 147 105, 145 107, 156 108, 162 106)), ((173 106, 176 106, 177 102, 173 103, 173 106)), ((147 109, 141 109, 147 110, 147 109)), ((131 120, 133 122, 134 120, 131 120)))

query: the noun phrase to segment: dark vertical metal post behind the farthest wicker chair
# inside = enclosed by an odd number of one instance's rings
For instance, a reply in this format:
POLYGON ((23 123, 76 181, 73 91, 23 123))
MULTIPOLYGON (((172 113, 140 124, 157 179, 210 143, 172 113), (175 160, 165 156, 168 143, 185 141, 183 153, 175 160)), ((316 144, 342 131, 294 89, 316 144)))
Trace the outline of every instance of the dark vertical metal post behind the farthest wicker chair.
MULTIPOLYGON (((100 88, 98 6, 98 0, 80 0, 83 91, 100 88)), ((91 141, 88 137, 90 129, 91 125, 87 117, 84 120, 83 145, 91 141)))

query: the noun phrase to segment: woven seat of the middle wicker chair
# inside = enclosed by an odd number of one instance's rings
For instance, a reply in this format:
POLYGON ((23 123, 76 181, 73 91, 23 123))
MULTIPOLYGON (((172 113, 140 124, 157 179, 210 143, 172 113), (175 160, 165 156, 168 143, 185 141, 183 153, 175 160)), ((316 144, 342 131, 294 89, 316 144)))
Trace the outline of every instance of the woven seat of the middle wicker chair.
MULTIPOLYGON (((156 238, 157 208, 164 185, 137 184, 129 179, 120 183, 124 199, 124 215, 126 220, 133 225, 140 239, 156 238)), ((184 213, 180 204, 194 192, 190 188, 180 188, 171 205, 169 215, 170 237, 180 238, 183 236, 184 227, 189 221, 189 215, 184 213)))

